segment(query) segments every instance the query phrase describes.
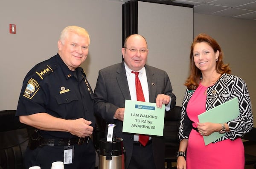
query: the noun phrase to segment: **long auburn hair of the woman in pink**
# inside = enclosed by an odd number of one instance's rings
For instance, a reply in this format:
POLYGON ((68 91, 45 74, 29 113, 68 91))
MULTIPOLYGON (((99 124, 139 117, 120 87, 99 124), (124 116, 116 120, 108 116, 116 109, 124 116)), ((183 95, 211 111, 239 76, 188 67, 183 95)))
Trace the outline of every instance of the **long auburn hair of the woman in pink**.
POLYGON ((195 39, 193 40, 193 43, 190 47, 190 56, 189 56, 190 57, 190 74, 184 83, 184 85, 189 90, 197 89, 199 86, 200 79, 202 77, 201 70, 195 66, 194 56, 193 56, 195 44, 201 43, 201 42, 207 42, 209 44, 209 46, 212 47, 212 49, 215 53, 217 51, 219 51, 218 60, 216 60, 216 67, 215 67, 216 72, 218 72, 219 74, 224 74, 224 73, 230 74, 231 73, 229 64, 223 63, 224 54, 222 53, 221 47, 219 46, 217 41, 215 39, 213 39, 212 37, 210 37, 208 34, 204 34, 204 33, 198 34, 195 37, 195 39))

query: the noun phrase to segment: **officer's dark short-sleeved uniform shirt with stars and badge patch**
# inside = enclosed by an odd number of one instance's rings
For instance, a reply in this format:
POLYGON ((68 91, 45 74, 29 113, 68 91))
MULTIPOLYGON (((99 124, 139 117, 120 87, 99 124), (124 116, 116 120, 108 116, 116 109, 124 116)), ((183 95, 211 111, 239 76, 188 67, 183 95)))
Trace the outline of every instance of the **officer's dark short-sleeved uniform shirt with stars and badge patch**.
MULTIPOLYGON (((81 67, 70 71, 56 54, 38 63, 26 75, 16 116, 46 112, 63 119, 84 118, 92 121, 93 91, 81 67)), ((41 131, 45 138, 72 138, 69 132, 41 131)))

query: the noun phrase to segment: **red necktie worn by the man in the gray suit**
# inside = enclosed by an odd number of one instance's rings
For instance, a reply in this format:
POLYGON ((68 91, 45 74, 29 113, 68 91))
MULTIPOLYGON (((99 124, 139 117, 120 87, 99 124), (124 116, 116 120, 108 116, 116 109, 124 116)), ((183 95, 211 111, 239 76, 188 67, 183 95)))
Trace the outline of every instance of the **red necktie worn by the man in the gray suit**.
MULTIPOLYGON (((145 102, 145 98, 143 95, 143 90, 140 84, 140 79, 138 77, 139 72, 134 72, 131 71, 132 73, 135 74, 135 86, 136 86, 136 95, 137 95, 137 101, 144 101, 145 102)), ((149 137, 147 135, 139 135, 139 142, 143 145, 146 146, 148 143, 149 137)))

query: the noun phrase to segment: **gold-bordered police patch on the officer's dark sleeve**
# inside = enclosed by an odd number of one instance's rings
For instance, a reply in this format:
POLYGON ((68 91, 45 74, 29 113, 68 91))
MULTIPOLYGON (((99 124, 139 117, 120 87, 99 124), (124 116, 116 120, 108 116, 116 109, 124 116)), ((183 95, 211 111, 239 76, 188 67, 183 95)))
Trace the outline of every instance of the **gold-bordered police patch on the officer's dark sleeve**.
POLYGON ((23 93, 24 97, 32 99, 32 97, 38 92, 40 86, 35 79, 29 79, 26 89, 23 93))

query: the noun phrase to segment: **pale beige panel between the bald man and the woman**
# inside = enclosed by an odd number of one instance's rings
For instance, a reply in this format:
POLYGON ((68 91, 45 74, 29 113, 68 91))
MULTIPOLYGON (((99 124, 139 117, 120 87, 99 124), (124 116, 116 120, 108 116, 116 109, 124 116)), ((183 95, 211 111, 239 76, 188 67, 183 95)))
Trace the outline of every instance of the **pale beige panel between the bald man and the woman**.
POLYGON ((138 32, 148 43, 147 64, 167 72, 176 105, 181 106, 193 40, 193 8, 138 2, 138 32), (178 16, 178 17, 170 17, 178 16))

